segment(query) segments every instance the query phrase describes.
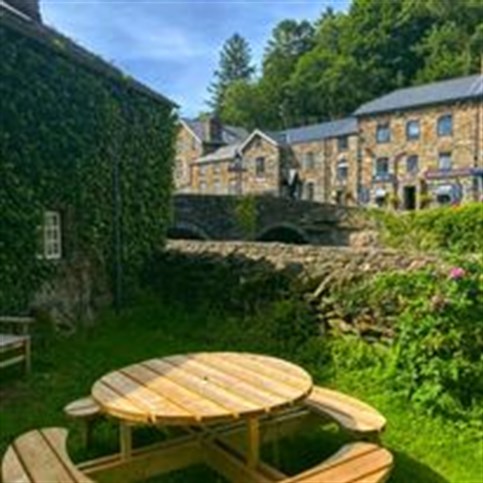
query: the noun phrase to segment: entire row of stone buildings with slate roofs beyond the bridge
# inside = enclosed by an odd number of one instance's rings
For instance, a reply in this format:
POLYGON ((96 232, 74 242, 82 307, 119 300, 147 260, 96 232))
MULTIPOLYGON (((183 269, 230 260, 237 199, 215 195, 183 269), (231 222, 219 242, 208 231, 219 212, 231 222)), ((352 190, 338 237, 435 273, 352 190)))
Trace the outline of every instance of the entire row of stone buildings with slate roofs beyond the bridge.
POLYGON ((337 121, 225 129, 239 135, 180 156, 187 191, 405 210, 483 197, 481 75, 400 89, 337 121))

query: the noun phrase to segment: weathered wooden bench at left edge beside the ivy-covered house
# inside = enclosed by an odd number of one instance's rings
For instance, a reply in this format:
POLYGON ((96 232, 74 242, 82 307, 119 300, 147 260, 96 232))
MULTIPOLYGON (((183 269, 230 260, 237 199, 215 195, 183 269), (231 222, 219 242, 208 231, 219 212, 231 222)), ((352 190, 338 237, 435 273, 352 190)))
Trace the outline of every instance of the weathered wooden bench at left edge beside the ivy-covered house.
POLYGON ((25 372, 30 372, 28 328, 33 321, 31 317, 0 317, 0 325, 10 327, 6 333, 0 331, 0 369, 23 363, 25 372))

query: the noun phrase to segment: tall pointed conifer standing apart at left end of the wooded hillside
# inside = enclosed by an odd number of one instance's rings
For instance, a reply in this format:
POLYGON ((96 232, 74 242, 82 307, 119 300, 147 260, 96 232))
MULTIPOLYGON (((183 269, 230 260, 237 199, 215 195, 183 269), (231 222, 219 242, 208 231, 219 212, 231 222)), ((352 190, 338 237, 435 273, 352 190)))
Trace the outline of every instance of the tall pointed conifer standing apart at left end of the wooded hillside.
POLYGON ((226 90, 232 83, 252 78, 255 68, 251 62, 250 46, 241 35, 236 33, 225 42, 215 80, 208 88, 211 93, 208 104, 215 113, 220 114, 226 90))

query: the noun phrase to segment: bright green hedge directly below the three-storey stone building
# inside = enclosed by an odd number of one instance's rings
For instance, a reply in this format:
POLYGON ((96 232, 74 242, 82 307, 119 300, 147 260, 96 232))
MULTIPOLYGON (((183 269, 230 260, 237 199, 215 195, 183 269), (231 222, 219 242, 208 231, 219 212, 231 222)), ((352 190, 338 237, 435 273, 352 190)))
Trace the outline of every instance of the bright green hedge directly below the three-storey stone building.
POLYGON ((483 204, 442 207, 400 214, 372 211, 383 241, 395 248, 483 252, 483 204))

